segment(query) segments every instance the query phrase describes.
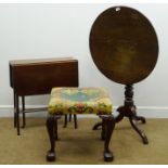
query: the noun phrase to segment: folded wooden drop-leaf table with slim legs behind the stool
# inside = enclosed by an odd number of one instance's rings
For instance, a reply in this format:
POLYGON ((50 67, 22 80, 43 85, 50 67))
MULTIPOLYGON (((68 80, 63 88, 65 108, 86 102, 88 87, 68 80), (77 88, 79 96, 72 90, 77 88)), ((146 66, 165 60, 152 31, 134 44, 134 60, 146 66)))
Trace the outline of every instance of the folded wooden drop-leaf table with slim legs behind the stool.
POLYGON ((10 61, 10 86, 14 93, 14 127, 20 134, 20 113, 24 128, 25 113, 47 111, 47 107, 25 108, 25 96, 50 94, 53 87, 78 87, 78 61, 73 57, 10 61))

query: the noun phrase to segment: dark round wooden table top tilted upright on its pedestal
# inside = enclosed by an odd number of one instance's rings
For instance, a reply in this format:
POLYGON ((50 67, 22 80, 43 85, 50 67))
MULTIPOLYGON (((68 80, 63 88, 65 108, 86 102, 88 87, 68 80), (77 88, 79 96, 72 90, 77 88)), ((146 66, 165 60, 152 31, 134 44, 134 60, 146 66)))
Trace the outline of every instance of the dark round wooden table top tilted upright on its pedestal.
POLYGON ((134 9, 115 7, 101 13, 90 31, 96 67, 109 79, 132 85, 146 78, 158 57, 158 40, 150 21, 134 9))

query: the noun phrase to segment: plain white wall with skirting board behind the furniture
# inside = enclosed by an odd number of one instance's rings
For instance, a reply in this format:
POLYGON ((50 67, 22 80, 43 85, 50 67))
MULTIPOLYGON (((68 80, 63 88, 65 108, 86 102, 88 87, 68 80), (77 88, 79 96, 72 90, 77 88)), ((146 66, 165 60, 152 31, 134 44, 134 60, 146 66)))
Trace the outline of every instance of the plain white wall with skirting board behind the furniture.
MULTIPOLYGON (((74 56, 80 87, 105 87, 114 106, 124 103, 124 86, 104 77, 92 62, 89 33, 96 16, 118 4, 0 4, 0 116, 13 115, 9 61, 74 56)), ((158 36, 158 62, 148 78, 134 85, 134 102, 146 117, 168 117, 168 4, 127 4, 143 13, 158 36)), ((30 96, 31 106, 49 95, 30 96)), ((40 114, 37 114, 40 115, 40 114)))

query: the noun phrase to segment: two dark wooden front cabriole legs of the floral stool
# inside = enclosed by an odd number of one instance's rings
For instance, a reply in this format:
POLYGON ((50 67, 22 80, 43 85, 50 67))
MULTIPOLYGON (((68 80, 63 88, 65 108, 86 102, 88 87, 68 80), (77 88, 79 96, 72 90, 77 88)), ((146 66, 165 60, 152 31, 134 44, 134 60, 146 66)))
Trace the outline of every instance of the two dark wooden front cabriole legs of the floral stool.
MULTIPOLYGON (((112 161, 114 159, 113 152, 109 150, 109 141, 115 128, 115 119, 113 115, 101 115, 100 116, 104 124, 102 134, 104 135, 104 161, 112 161)), ((47 130, 50 139, 50 150, 47 152, 47 160, 54 161, 56 159, 55 152, 55 140, 57 140, 57 119, 61 115, 49 115, 47 118, 47 130)))

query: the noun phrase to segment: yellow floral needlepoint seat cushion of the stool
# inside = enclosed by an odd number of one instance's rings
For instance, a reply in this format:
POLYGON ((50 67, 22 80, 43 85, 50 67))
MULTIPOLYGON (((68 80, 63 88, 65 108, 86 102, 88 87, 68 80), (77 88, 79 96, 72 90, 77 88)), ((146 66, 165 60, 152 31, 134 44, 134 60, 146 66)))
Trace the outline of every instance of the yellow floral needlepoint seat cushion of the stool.
POLYGON ((111 114, 112 102, 104 88, 53 88, 50 114, 111 114))

